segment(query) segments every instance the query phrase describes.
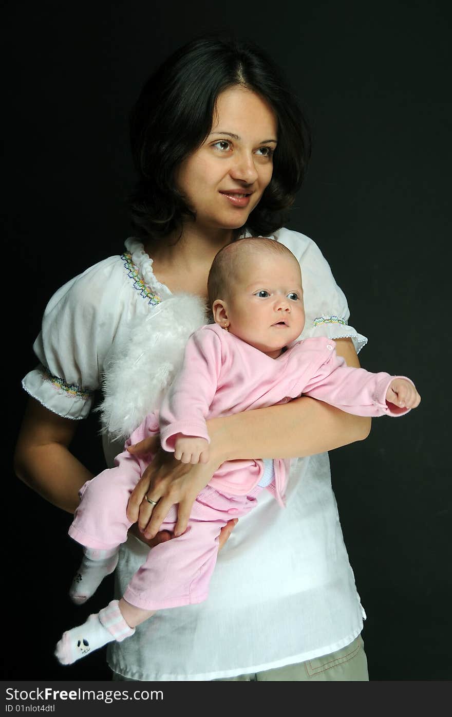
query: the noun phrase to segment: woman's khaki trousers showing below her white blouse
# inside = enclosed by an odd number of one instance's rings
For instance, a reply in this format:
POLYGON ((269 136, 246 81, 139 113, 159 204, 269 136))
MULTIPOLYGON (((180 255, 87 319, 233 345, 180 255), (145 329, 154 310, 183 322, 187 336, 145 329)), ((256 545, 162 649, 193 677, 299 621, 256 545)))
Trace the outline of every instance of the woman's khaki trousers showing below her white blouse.
MULTIPOLYGON (((113 680, 134 681, 128 677, 122 677, 113 673, 113 680)), ((314 657, 305 663, 297 665, 286 665, 276 670, 264 670, 264 672, 251 675, 238 675, 237 677, 220 678, 213 682, 302 682, 302 681, 323 681, 335 682, 367 682, 367 657, 364 652, 364 642, 361 635, 356 640, 342 647, 342 650, 332 652, 323 657, 314 657)))

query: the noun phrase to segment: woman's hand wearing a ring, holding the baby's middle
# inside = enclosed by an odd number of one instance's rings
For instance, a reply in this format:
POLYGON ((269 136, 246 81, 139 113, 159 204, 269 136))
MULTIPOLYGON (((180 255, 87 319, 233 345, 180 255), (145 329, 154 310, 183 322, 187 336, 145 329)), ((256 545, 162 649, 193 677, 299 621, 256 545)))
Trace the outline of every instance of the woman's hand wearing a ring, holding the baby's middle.
POLYGON ((154 455, 130 495, 128 519, 133 523, 138 521, 145 538, 155 538, 171 506, 178 505, 174 535, 180 536, 187 528, 196 495, 206 488, 218 464, 213 460, 196 465, 175 460, 173 453, 160 447, 158 436, 145 438, 128 450, 133 455, 154 455), (146 495, 157 504, 148 503, 146 495))

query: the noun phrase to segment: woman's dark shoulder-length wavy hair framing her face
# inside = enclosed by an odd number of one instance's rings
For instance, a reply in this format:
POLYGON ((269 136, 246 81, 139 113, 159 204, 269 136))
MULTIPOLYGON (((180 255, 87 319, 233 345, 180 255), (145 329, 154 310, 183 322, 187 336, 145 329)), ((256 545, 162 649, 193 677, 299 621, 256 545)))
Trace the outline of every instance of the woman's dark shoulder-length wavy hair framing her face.
POLYGON ((246 227, 271 234, 302 184, 310 134, 294 94, 281 72, 256 45, 239 39, 201 37, 160 65, 130 113, 130 141, 138 183, 130 196, 133 225, 157 239, 194 217, 175 187, 175 170, 211 132, 216 99, 241 85, 264 98, 277 115, 274 170, 246 227))

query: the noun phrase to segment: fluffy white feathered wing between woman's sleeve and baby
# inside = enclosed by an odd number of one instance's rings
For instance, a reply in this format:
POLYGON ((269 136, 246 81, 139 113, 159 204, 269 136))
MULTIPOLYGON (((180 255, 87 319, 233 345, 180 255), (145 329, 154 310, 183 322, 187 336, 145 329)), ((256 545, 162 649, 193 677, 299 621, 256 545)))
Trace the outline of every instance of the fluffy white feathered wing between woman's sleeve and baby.
POLYGON ((128 438, 160 406, 181 369, 189 336, 205 323, 206 303, 191 294, 171 295, 130 323, 105 362, 104 399, 96 409, 103 433, 128 438))

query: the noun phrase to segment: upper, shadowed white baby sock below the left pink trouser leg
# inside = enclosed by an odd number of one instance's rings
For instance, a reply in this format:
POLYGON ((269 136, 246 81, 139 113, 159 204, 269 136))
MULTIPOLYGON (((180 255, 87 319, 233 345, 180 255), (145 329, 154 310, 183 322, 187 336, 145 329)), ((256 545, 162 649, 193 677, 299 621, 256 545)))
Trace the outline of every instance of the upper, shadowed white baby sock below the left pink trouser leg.
POLYGON ((110 550, 85 548, 83 552, 82 564, 69 588, 69 597, 77 605, 94 595, 105 576, 113 572, 117 565, 119 547, 110 550))

